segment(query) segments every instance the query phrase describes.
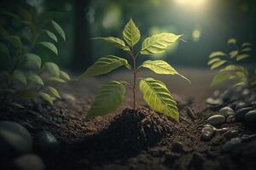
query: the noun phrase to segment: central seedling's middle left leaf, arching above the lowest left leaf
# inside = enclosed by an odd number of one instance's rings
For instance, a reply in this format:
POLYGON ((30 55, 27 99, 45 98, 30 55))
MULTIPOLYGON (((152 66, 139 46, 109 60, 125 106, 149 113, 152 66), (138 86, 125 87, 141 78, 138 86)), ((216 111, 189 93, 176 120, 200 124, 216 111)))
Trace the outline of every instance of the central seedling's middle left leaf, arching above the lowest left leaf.
POLYGON ((82 77, 95 77, 98 75, 107 74, 120 66, 125 65, 131 70, 131 65, 128 64, 126 59, 119 58, 114 55, 107 55, 98 59, 96 63, 91 65, 82 75, 82 77))

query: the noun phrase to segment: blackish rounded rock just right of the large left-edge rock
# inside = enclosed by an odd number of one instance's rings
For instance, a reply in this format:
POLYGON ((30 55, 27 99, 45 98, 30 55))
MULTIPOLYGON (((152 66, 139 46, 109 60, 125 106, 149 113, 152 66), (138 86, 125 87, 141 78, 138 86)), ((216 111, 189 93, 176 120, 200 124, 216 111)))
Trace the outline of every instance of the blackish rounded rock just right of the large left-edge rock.
POLYGON ((42 131, 35 136, 34 147, 41 154, 55 154, 60 149, 60 142, 52 133, 42 131))

